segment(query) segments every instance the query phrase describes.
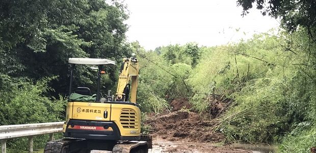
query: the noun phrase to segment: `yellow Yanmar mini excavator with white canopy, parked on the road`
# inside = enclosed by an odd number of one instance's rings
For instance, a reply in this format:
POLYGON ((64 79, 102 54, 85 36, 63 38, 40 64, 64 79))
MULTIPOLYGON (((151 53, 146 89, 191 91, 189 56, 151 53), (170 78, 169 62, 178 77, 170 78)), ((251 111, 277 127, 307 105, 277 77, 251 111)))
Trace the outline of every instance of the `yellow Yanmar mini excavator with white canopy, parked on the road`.
POLYGON ((109 150, 113 153, 148 152, 151 138, 141 135, 141 112, 136 104, 138 60, 124 58, 120 68, 116 95, 102 96, 101 75, 104 67, 115 65, 108 59, 69 58, 71 65, 69 97, 63 139, 46 143, 44 153, 87 153, 109 150), (97 91, 73 87, 75 65, 94 65, 97 70, 97 91), (130 97, 130 98, 129 98, 130 97), (130 99, 130 100, 129 100, 130 99))

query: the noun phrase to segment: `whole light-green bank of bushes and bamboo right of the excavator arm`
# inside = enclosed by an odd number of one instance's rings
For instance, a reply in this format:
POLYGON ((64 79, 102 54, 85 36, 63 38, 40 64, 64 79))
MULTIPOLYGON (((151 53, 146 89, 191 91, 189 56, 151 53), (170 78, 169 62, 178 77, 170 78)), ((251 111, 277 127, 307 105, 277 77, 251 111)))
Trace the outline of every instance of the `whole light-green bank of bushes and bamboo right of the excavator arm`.
POLYGON ((278 144, 280 152, 308 152, 316 144, 315 44, 304 29, 199 47, 196 66, 183 54, 188 45, 164 46, 141 58, 140 91, 153 87, 140 97, 153 104, 144 110, 159 113, 169 107, 160 98, 187 97, 192 111, 219 120, 216 129, 227 142, 278 144))

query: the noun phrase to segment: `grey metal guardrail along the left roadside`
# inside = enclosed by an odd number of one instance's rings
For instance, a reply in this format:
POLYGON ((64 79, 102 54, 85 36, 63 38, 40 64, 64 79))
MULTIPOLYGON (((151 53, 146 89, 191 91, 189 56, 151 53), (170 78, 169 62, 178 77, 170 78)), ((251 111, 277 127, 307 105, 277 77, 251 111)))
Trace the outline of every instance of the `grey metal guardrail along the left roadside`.
POLYGON ((8 139, 29 137, 29 152, 33 152, 33 136, 50 134, 49 140, 53 140, 54 133, 62 132, 63 124, 64 122, 2 125, 0 126, 1 151, 6 153, 8 139))

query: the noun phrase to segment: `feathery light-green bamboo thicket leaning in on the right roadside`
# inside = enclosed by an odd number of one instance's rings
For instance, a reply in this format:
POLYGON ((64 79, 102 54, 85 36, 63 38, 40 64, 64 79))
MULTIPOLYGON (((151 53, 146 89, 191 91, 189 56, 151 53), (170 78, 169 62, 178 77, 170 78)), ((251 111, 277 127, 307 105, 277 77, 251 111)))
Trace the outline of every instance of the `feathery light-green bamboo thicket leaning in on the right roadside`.
MULTIPOLYGON (((298 133, 304 131, 303 134, 309 136, 304 135, 306 140, 299 147, 306 152, 316 143, 315 44, 302 39, 308 38, 305 31, 292 36, 279 35, 255 35, 249 41, 222 46, 228 51, 207 49, 190 83, 194 89, 206 93, 212 91, 205 86, 215 86, 216 93, 234 99, 232 107, 221 117, 221 131, 228 141, 276 143, 286 135, 301 139, 303 136, 298 133), (283 47, 289 39, 293 41, 293 52, 283 47), (207 70, 206 65, 209 66, 207 70)), ((192 103, 199 111, 205 110, 201 106, 209 106, 198 97, 193 98, 192 103)), ((289 140, 293 141, 287 138, 284 141, 289 140)), ((283 148, 293 152, 292 147, 283 148)))

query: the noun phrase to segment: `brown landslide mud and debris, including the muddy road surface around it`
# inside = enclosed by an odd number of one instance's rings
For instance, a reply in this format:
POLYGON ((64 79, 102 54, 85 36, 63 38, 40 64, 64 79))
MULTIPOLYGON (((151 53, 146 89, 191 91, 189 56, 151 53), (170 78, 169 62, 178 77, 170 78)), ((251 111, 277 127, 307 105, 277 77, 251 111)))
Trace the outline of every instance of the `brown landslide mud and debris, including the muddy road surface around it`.
POLYGON ((153 136, 151 152, 252 152, 214 146, 214 143, 223 142, 225 137, 214 131, 214 125, 218 121, 210 121, 210 118, 224 110, 226 101, 209 99, 209 102, 209 110, 202 117, 208 118, 206 120, 192 112, 192 105, 186 98, 173 99, 170 103, 171 112, 166 110, 163 114, 148 115, 149 119, 145 124, 151 126, 153 136))

